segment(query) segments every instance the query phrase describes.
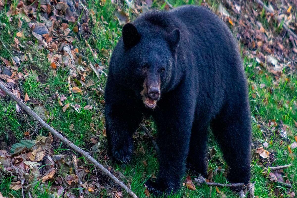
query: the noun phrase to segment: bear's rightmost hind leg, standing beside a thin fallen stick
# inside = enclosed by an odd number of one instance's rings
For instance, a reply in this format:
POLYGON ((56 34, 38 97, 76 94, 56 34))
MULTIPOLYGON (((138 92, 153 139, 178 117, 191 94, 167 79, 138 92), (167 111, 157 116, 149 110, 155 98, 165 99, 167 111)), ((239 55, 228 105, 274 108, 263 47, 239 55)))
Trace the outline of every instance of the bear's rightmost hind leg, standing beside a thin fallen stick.
POLYGON ((225 105, 211 123, 212 131, 229 167, 228 181, 248 184, 251 161, 249 106, 247 101, 242 101, 232 107, 225 105))

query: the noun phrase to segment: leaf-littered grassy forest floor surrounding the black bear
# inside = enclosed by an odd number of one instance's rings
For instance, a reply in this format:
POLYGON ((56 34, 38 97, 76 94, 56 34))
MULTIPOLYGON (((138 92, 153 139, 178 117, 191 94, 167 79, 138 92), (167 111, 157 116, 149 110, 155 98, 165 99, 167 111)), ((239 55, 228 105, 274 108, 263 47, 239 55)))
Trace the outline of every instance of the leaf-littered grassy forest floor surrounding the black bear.
MULTIPOLYGON (((266 1, 273 14, 257 1, 66 2, 71 1, 0 0, 0 79, 51 127, 90 152, 139 197, 153 197, 143 184, 157 175, 157 157, 141 129, 133 136, 136 149, 128 165, 115 164, 108 156, 102 91, 108 62, 123 24, 141 12, 201 5, 219 15, 238 39, 248 79, 253 186, 247 196, 295 196, 297 39, 283 28, 297 33, 293 0, 266 1), (277 171, 267 168, 287 164, 292 165, 277 171)), ((78 177, 84 197, 128 197, 83 157, 78 158, 76 175, 71 157, 76 153, 1 90, 0 104, 0 198, 23 197, 22 193, 24 197, 78 197, 78 177)), ((144 124, 156 137, 154 123, 144 124)), ((227 164, 209 136, 206 179, 227 183, 227 164)), ((190 177, 187 172, 182 188, 170 197, 238 197, 227 187, 194 186, 190 177)))

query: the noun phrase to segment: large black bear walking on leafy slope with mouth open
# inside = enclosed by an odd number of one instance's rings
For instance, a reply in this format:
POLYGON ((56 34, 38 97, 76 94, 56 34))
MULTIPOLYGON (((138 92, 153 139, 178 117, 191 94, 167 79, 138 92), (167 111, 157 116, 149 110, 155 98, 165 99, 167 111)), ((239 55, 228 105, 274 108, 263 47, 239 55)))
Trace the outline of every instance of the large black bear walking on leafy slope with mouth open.
POLYGON ((144 115, 157 125, 159 173, 150 191, 176 192, 186 163, 207 174, 208 128, 231 183, 249 182, 247 80, 229 28, 203 7, 146 12, 122 30, 110 59, 105 119, 112 157, 127 163, 144 115))

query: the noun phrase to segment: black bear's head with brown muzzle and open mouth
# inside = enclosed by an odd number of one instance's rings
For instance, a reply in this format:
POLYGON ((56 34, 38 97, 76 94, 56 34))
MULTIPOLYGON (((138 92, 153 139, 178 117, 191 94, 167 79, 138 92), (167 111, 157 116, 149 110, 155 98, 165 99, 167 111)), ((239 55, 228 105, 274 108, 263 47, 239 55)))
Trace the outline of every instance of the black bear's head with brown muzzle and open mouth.
POLYGON ((125 85, 127 93, 133 92, 133 98, 153 109, 170 84, 181 32, 139 27, 124 25, 122 39, 110 59, 110 71, 125 85))

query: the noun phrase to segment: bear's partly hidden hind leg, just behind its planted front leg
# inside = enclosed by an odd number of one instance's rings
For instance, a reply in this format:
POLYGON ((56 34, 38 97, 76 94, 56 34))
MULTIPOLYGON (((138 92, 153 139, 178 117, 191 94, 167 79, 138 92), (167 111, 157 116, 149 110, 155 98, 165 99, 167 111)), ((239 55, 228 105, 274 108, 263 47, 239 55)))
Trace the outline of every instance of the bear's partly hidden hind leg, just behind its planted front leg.
POLYGON ((193 123, 187 165, 195 175, 207 175, 207 125, 193 123))

